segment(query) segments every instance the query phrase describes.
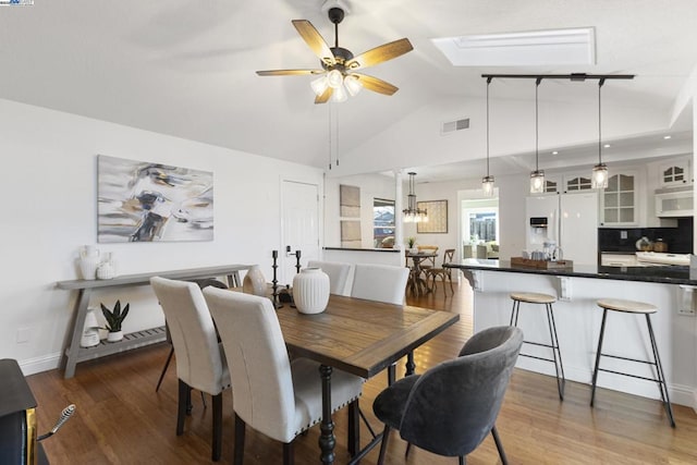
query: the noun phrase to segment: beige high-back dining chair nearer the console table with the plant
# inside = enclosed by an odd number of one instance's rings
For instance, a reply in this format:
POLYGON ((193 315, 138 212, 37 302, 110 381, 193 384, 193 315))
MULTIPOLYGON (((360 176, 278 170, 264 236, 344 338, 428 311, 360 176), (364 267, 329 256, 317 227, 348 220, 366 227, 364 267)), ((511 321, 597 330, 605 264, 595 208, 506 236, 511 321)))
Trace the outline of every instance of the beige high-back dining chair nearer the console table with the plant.
POLYGON ((211 457, 217 462, 222 450, 222 391, 230 388, 230 371, 222 346, 218 343, 212 317, 198 284, 154 277, 150 285, 164 311, 176 358, 176 436, 184 432, 184 418, 191 414, 192 389, 210 394, 213 423, 211 457))

